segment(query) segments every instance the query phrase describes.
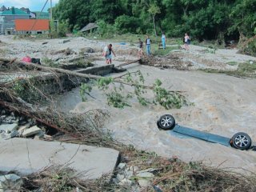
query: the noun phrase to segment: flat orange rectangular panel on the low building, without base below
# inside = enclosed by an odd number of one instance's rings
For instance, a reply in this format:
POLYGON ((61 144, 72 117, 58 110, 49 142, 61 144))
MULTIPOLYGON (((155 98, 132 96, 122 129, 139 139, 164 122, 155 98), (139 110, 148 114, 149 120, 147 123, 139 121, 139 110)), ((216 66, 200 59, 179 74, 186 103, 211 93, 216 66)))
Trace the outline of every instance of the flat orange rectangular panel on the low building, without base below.
POLYGON ((49 19, 15 19, 15 30, 49 30, 49 19))

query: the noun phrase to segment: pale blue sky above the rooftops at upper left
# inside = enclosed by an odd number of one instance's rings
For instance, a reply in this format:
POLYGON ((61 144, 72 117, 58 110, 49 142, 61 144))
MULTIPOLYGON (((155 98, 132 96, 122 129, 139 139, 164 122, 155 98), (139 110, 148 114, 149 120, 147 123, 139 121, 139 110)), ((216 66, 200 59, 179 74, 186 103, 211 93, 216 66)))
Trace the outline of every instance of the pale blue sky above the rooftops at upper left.
MULTIPOLYGON (((53 6, 58 2, 59 0, 52 0, 53 6)), ((10 6, 14 6, 17 8, 26 7, 29 8, 31 11, 40 11, 42 10, 42 7, 46 3, 46 0, 0 0, 0 7, 6 6, 7 8, 10 6)), ((48 3, 43 11, 47 11, 48 8, 50 8, 50 0, 48 0, 48 3)))

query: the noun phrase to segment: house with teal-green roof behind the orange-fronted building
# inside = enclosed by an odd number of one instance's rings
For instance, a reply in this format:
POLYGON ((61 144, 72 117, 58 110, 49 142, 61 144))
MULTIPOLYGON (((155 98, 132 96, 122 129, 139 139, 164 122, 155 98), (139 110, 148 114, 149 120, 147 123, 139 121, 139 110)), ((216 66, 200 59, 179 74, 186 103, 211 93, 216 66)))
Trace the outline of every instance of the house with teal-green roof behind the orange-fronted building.
POLYGON ((23 10, 14 8, 6 9, 5 6, 1 7, 0 12, 0 34, 15 34, 15 19, 29 19, 30 14, 27 14, 23 10))

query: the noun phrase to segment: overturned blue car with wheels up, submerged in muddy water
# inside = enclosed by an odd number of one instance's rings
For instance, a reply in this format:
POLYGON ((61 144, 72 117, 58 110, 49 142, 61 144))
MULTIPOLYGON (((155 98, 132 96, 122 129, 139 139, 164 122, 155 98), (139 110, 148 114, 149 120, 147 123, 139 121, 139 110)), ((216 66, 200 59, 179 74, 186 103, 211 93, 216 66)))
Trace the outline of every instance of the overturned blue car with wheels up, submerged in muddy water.
POLYGON ((232 146, 238 150, 249 150, 252 148, 255 150, 255 146, 252 145, 251 138, 248 134, 239 132, 234 134, 232 138, 226 138, 218 134, 210 134, 200 130, 194 130, 189 127, 179 126, 175 123, 175 119, 170 114, 162 115, 157 122, 158 128, 162 130, 171 130, 175 133, 190 136, 193 138, 199 138, 207 142, 219 143, 224 146, 232 146))

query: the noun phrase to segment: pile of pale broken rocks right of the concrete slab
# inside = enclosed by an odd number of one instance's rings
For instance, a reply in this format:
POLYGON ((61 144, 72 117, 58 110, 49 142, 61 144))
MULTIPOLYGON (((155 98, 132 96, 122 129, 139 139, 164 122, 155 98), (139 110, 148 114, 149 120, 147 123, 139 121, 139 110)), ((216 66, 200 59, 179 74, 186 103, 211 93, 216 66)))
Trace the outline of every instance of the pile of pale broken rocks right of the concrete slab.
MULTIPOLYGON (((119 186, 127 186, 132 188, 132 191, 141 191, 143 188, 153 186, 154 173, 158 169, 149 168, 139 170, 138 166, 127 166, 126 163, 120 163, 117 168, 117 175, 112 179, 114 184, 119 186)), ((161 191, 159 189, 159 191, 161 191)))

